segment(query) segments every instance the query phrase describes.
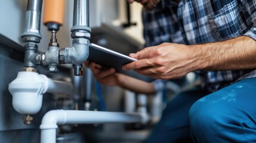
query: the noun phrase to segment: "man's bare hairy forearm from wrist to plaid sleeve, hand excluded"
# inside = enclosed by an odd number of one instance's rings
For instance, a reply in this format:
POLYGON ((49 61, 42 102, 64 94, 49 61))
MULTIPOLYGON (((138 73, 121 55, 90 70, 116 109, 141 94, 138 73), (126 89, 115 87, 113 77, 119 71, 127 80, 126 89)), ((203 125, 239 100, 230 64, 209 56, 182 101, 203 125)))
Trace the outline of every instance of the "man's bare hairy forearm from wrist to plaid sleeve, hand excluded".
POLYGON ((256 68, 256 41, 247 36, 190 47, 197 55, 196 70, 240 70, 256 68))

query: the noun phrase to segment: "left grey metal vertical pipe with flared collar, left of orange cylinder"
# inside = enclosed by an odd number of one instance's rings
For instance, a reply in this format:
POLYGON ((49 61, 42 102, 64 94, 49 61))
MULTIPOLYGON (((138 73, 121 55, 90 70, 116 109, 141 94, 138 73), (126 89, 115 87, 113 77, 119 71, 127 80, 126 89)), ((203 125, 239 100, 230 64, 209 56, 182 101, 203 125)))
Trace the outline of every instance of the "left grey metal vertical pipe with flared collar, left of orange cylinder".
POLYGON ((27 2, 26 23, 23 35, 21 35, 22 38, 24 36, 36 36, 41 39, 41 11, 42 0, 29 0, 27 2))

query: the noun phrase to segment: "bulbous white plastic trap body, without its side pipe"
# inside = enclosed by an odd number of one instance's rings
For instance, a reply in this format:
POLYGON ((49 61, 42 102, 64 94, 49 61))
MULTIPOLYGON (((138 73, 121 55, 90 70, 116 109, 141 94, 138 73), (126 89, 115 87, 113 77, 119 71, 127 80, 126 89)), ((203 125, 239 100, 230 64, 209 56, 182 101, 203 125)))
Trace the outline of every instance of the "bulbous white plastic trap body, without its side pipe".
POLYGON ((47 91, 45 80, 45 76, 35 72, 18 72, 17 78, 8 87, 13 95, 13 107, 18 113, 38 113, 42 106, 42 94, 47 91))

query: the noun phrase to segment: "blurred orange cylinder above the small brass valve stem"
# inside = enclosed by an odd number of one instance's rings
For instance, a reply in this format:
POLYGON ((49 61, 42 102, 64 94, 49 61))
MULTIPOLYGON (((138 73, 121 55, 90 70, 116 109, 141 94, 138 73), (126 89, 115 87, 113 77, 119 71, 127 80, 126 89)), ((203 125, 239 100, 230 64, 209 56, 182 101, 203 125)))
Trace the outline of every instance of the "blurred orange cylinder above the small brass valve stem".
POLYGON ((44 24, 63 24, 64 0, 44 0, 44 24))

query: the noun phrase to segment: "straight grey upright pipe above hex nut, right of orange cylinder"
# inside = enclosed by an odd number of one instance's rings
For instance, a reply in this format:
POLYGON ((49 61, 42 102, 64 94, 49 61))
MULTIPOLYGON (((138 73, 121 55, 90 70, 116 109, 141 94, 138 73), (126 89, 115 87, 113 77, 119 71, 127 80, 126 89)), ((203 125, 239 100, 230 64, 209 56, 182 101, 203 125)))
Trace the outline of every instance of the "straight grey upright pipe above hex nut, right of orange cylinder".
POLYGON ((73 13, 74 13, 73 26, 90 27, 90 25, 89 25, 89 0, 75 0, 73 13))

